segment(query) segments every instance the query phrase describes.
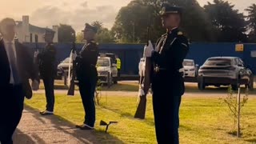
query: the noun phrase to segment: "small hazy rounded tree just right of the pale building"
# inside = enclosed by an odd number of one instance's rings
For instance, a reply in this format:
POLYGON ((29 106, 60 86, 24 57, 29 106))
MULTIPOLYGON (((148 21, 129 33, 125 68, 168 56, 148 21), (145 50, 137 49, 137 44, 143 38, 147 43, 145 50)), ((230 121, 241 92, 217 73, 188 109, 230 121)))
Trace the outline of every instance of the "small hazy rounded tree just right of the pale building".
POLYGON ((60 24, 58 27, 58 42, 73 42, 72 33, 74 33, 72 26, 60 24))

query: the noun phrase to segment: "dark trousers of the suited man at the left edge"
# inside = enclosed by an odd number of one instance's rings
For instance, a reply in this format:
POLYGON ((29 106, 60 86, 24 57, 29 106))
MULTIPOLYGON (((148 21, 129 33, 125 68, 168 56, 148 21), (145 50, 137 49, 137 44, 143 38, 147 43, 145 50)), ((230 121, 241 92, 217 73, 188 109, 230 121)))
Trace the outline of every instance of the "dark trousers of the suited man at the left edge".
POLYGON ((24 94, 22 85, 0 87, 0 143, 12 144, 12 136, 22 118, 24 94))

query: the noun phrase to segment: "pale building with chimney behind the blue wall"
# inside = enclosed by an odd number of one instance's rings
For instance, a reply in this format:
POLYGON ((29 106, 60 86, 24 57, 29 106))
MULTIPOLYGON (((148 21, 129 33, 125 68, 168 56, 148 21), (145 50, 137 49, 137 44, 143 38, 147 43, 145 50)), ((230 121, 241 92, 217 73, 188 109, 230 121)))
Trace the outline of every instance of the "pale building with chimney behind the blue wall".
MULTIPOLYGON (((46 28, 31 25, 29 16, 22 16, 22 21, 16 21, 16 25, 19 42, 35 42, 35 35, 38 35, 38 42, 45 42, 43 34, 46 28)), ((52 26, 52 30, 55 31, 54 42, 58 42, 58 26, 52 26)))

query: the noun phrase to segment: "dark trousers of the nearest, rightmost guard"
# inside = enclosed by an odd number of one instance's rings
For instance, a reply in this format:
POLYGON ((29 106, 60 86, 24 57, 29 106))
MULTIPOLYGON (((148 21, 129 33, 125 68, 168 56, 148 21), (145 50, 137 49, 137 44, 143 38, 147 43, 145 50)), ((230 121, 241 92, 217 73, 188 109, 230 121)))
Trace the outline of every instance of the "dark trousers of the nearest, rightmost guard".
MULTIPOLYGON (((178 144, 179 106, 182 94, 171 78, 154 78, 152 82, 155 131, 158 144, 178 144), (169 81, 169 80, 170 81, 169 81)), ((174 79, 174 78, 173 78, 174 79)))

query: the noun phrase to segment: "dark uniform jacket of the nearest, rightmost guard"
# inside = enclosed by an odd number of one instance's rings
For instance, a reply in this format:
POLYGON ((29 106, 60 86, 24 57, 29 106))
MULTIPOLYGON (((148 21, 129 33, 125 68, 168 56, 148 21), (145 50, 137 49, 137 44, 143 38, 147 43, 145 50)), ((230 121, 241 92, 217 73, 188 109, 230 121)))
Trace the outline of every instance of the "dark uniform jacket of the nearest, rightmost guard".
MULTIPOLYGON (((188 51, 187 38, 176 28, 167 34, 163 34, 162 38, 158 39, 152 54, 153 68, 158 67, 160 69, 159 72, 153 70, 153 79, 158 78, 165 83, 164 85, 170 86, 174 94, 184 93, 182 62, 188 51)), ((155 81, 153 80, 153 82, 155 81)))

